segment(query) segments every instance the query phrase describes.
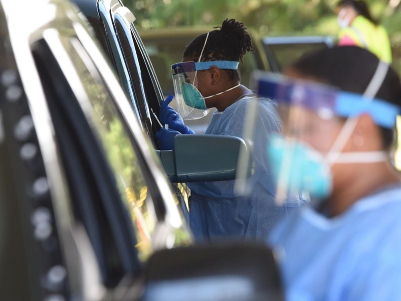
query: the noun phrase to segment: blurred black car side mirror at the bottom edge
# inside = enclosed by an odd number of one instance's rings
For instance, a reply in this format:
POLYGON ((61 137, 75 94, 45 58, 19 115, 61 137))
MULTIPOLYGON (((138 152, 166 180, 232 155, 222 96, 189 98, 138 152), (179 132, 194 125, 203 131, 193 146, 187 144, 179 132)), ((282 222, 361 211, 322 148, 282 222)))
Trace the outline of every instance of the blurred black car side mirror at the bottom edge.
POLYGON ((272 251, 257 244, 209 244, 155 252, 142 300, 284 300, 272 251))

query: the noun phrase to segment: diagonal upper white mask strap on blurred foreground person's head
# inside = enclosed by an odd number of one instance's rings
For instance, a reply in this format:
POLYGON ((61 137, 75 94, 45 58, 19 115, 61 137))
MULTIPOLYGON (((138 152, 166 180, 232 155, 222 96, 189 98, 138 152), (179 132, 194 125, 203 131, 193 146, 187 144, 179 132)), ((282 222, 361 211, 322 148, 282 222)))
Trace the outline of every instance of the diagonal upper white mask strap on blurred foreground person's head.
MULTIPOLYGON (((372 79, 363 93, 363 96, 369 99, 367 101, 371 101, 376 96, 385 79, 385 76, 387 75, 388 68, 389 64, 379 61, 376 71, 374 72, 372 79)), ((353 130, 355 129, 356 123, 357 118, 348 118, 345 121, 343 128, 341 129, 337 139, 334 141, 329 153, 325 158, 325 161, 329 166, 337 162, 338 158, 340 157, 341 150, 344 148, 353 130)))

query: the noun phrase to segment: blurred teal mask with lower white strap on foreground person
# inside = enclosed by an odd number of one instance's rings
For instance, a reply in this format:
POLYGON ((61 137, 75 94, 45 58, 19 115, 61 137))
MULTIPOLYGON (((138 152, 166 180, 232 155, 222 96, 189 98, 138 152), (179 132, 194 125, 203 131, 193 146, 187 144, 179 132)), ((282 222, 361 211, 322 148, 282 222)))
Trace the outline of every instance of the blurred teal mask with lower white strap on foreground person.
POLYGON ((323 156, 307 143, 297 139, 273 136, 267 146, 269 164, 277 185, 277 195, 289 191, 309 193, 313 199, 324 199, 332 192, 331 166, 350 163, 377 163, 388 160, 384 151, 333 152, 323 156))

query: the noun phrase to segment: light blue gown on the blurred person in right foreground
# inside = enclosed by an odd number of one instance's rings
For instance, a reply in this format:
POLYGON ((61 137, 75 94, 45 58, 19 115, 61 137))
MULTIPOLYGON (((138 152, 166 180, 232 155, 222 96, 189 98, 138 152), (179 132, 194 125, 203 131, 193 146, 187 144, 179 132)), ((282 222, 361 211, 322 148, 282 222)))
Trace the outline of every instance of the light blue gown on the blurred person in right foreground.
POLYGON ((269 240, 288 300, 401 300, 401 186, 335 218, 305 206, 269 240))

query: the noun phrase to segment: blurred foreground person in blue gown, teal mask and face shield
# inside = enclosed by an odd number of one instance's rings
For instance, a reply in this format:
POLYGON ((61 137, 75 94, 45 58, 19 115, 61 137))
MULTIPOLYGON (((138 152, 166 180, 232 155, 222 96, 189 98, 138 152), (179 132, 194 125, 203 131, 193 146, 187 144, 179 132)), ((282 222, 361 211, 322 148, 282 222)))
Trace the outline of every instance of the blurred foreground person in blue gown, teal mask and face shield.
POLYGON ((390 159, 396 72, 347 46, 307 54, 286 74, 259 87, 282 116, 283 136, 268 147, 278 190, 312 199, 269 237, 287 299, 401 299, 401 178, 390 159))

